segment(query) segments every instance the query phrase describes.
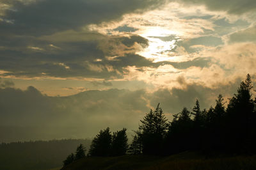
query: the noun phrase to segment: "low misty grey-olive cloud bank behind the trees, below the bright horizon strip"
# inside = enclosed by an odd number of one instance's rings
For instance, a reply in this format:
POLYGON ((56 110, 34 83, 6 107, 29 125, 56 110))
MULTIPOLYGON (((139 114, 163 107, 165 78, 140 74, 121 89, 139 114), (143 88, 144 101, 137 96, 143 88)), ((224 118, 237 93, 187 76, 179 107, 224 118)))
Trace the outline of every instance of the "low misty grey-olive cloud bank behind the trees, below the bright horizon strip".
MULTIPOLYGON (((47 97, 38 89, 29 86, 26 90, 0 88, 0 123, 12 140, 21 140, 15 129, 26 128, 38 130, 39 139, 93 137, 100 129, 111 127, 113 130, 126 127, 138 128, 138 123, 160 102, 169 120, 172 114, 180 112, 182 107, 193 108, 198 98, 202 108, 214 105, 219 93, 225 98, 236 92, 239 85, 229 83, 216 89, 205 88, 200 84, 189 84, 182 77, 179 83, 184 89, 159 89, 154 92, 146 90, 129 91, 127 89, 88 90, 68 97, 47 97), (30 128, 28 128, 30 127, 30 128), (73 131, 70 131, 70 128, 73 131), (47 130, 44 130, 47 129, 47 130), (60 129, 67 133, 59 134, 60 129)), ((74 89, 74 88, 72 88, 74 89)), ((27 136, 29 140, 33 136, 27 136)), ((1 136, 0 141, 8 141, 1 136)))

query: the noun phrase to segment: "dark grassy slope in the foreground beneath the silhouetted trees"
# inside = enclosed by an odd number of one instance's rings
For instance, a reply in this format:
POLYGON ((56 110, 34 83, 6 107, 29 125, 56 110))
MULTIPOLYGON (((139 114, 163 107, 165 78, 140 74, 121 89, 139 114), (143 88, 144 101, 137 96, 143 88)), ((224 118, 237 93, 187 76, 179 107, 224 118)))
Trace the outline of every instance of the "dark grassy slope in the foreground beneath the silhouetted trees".
POLYGON ((63 170, 82 169, 256 169, 256 156, 205 158, 196 153, 170 157, 125 155, 122 157, 86 157, 63 170))

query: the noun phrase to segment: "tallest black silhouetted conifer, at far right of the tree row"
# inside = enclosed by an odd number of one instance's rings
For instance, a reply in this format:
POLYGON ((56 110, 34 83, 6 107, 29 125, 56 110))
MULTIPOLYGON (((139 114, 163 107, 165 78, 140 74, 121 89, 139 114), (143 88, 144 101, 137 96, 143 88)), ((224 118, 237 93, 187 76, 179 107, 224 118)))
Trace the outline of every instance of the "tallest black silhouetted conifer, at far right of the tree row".
POLYGON ((230 151, 250 152, 253 134, 255 134, 255 116, 250 74, 241 82, 237 94, 230 98, 227 107, 227 148, 230 151))

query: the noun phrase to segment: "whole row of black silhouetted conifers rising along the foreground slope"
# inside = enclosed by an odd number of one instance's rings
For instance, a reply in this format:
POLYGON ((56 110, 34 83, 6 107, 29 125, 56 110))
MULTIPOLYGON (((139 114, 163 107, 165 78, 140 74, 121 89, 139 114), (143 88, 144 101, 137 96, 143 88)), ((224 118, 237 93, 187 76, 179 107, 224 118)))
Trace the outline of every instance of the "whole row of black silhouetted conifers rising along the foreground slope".
POLYGON ((184 107, 173 115, 172 121, 166 119, 158 104, 140 120, 129 148, 126 128, 113 135, 106 128, 93 139, 88 156, 170 155, 188 150, 255 154, 256 98, 253 99, 252 88, 248 74, 237 93, 228 99, 227 108, 222 95, 209 109, 201 109, 196 99, 192 111, 184 107))

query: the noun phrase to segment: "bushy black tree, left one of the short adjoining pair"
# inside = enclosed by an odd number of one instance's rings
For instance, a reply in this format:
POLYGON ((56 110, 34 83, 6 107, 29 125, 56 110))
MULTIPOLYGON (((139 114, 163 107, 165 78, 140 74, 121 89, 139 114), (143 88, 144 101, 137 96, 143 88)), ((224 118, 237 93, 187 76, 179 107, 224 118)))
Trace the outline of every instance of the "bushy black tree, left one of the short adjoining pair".
POLYGON ((109 127, 105 130, 100 130, 90 146, 90 156, 109 156, 111 154, 111 141, 112 136, 109 131, 109 127))

